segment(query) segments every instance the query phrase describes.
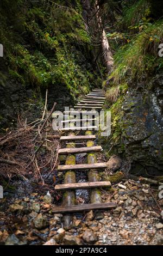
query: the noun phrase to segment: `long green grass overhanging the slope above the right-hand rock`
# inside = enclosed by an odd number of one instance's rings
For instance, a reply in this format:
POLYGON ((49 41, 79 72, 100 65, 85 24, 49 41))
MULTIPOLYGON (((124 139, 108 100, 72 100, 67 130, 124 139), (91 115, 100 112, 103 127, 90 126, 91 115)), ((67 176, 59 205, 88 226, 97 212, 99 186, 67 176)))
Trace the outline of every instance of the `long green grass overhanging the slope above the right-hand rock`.
POLYGON ((116 84, 127 80, 142 80, 162 70, 163 59, 158 46, 163 38, 163 21, 149 26, 139 33, 130 44, 122 46, 115 54, 116 68, 112 72, 116 84))

